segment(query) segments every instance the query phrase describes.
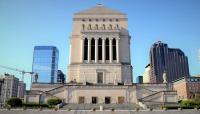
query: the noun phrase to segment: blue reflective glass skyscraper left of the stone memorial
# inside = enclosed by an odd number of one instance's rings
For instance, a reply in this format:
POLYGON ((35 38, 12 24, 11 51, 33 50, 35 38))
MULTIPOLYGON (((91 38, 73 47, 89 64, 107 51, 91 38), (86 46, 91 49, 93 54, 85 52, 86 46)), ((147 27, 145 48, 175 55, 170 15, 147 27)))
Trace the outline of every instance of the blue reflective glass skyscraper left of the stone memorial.
POLYGON ((59 51, 54 46, 35 46, 32 71, 39 83, 54 83, 57 79, 59 51))

